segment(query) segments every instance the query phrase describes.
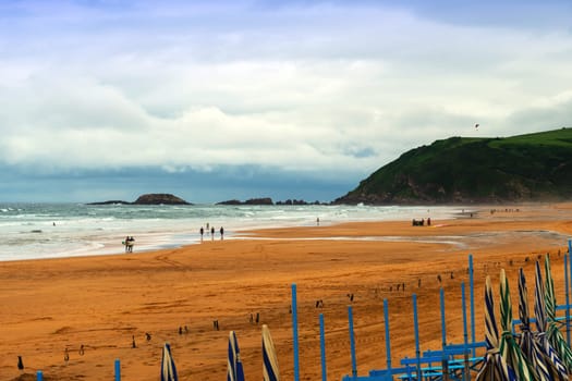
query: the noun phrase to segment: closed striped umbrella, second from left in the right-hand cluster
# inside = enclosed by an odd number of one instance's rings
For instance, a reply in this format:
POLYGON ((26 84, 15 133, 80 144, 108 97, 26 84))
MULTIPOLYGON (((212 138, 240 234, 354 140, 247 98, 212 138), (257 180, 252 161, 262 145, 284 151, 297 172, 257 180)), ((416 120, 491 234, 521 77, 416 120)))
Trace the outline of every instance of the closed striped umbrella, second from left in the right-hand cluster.
POLYGON ((528 360, 522 354, 521 347, 512 335, 512 303, 504 269, 500 270, 500 325, 502 328, 499 343, 500 355, 509 367, 514 370, 519 380, 536 380, 534 369, 530 366, 528 360))

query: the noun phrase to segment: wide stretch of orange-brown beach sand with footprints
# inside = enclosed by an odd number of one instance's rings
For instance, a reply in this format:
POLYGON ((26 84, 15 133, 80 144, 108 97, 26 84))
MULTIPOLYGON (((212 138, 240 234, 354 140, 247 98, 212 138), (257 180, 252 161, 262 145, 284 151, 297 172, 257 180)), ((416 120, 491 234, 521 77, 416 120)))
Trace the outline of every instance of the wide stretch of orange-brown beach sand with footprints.
MULTIPOLYGON (((480 341, 486 273, 498 284, 499 270, 506 268, 516 306, 518 269, 524 267, 532 290, 534 260, 550 251, 558 302, 564 302, 562 262, 565 236, 572 234, 572 205, 510 208, 490 213, 483 207, 474 218, 433 221, 431 228, 372 222, 275 229, 252 238, 156 253, 1 262, 0 380, 32 380, 37 369, 45 380, 111 380, 115 358, 122 362, 122 380, 158 380, 165 342, 171 343, 182 380, 222 380, 229 330, 236 332, 246 379, 259 380, 263 323, 270 328, 281 374, 289 380, 292 283, 297 285, 301 379, 321 379, 319 314, 326 325, 328 379, 351 373, 348 294, 354 294, 358 374, 367 374, 386 366, 384 298, 389 302, 393 365, 415 355, 413 293, 421 349, 441 345, 440 286, 448 341, 462 342, 460 290, 461 282, 468 285, 470 253, 480 341), (405 290, 398 292, 398 284, 405 290), (322 308, 316 308, 319 299, 322 308), (258 324, 250 322, 251 314, 259 314, 258 324), (220 331, 212 328, 215 319, 220 331), (16 368, 17 355, 24 371, 16 368)), ((498 287, 495 292, 498 297, 498 287)))

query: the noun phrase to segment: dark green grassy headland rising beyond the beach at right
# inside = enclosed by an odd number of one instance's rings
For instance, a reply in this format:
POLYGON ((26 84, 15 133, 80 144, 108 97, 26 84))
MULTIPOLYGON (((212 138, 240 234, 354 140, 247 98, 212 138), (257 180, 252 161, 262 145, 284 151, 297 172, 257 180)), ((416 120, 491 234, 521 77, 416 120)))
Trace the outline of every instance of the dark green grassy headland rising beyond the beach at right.
POLYGON ((572 128, 507 138, 451 137, 403 153, 336 204, 572 198, 572 128))

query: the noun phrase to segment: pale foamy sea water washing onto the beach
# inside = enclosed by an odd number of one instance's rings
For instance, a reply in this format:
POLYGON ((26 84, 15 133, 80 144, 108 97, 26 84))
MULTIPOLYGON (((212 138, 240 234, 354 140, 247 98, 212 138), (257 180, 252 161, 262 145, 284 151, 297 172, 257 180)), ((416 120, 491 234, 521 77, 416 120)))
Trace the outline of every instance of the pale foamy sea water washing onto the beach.
MULTIPOLYGON (((93 206, 84 204, 0 204, 0 261, 124 253, 134 236, 135 253, 200 242, 207 223, 224 228, 224 239, 242 231, 312 226, 349 221, 451 218, 460 207, 372 206, 93 206)), ((205 233, 205 239, 210 235, 205 233)))

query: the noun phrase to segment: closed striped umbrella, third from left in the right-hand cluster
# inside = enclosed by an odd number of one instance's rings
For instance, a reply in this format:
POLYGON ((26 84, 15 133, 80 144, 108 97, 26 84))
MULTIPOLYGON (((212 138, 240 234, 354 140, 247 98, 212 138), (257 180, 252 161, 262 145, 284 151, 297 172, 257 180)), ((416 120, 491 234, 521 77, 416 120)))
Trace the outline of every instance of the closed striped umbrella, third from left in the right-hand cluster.
POLYGON ((558 374, 558 372, 550 372, 550 367, 553 366, 544 353, 537 336, 531 331, 528 291, 526 288, 526 278, 522 269, 519 271, 519 316, 521 318, 521 337, 519 344, 522 353, 528 359, 533 369, 536 370, 537 380, 552 381, 552 374, 558 374))

